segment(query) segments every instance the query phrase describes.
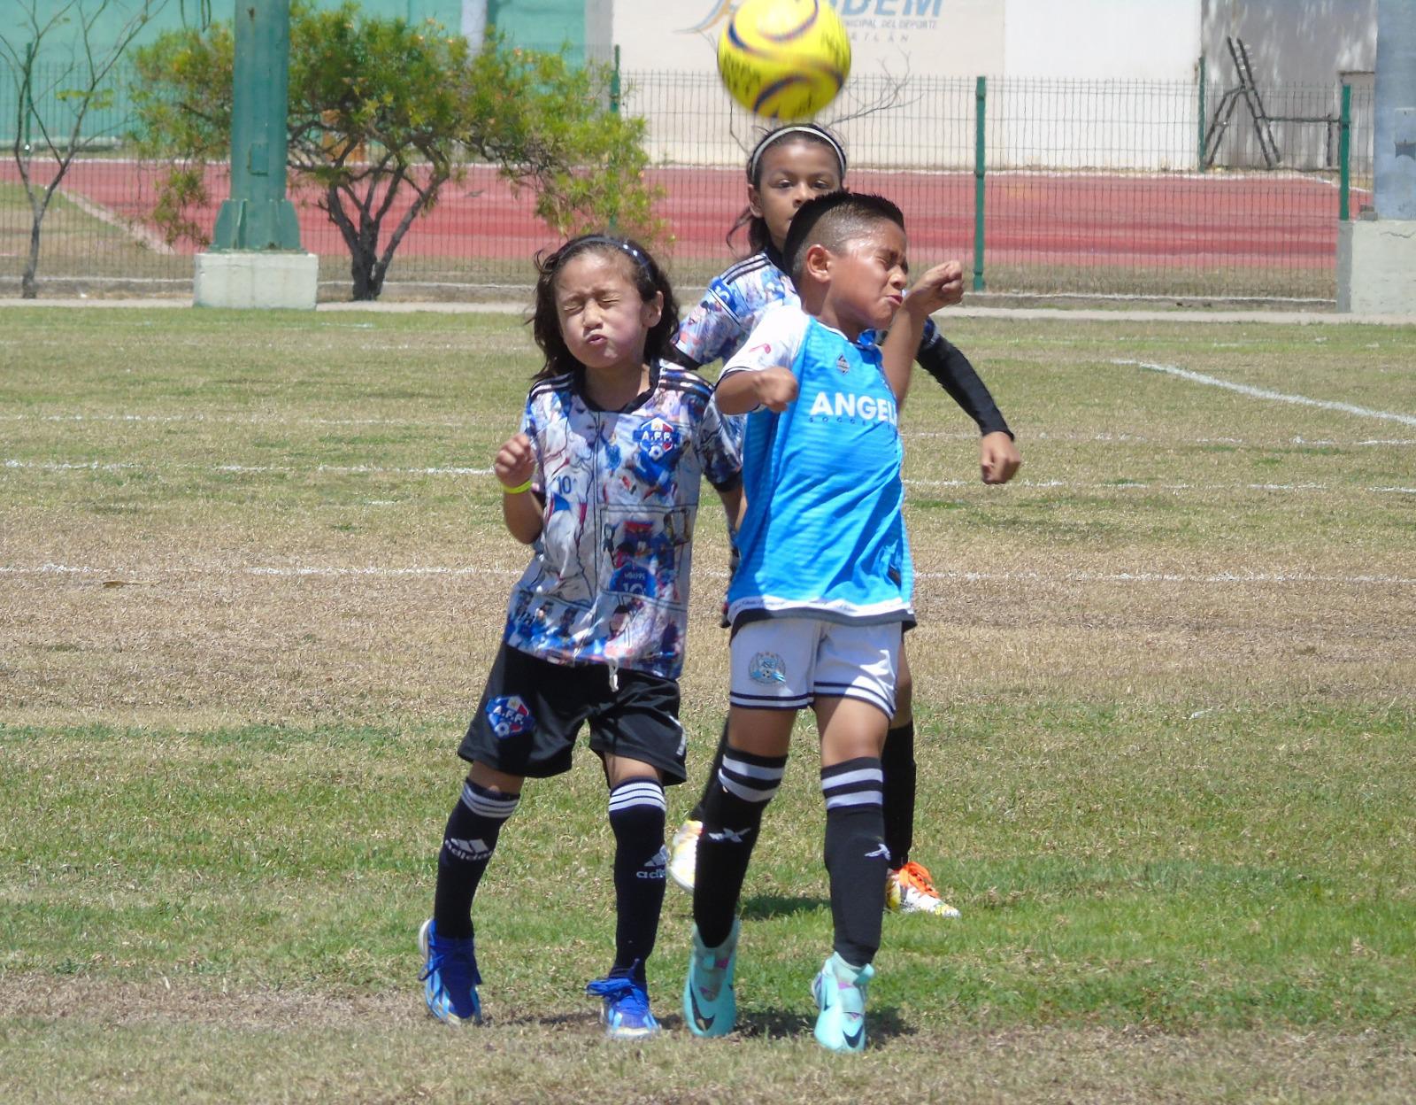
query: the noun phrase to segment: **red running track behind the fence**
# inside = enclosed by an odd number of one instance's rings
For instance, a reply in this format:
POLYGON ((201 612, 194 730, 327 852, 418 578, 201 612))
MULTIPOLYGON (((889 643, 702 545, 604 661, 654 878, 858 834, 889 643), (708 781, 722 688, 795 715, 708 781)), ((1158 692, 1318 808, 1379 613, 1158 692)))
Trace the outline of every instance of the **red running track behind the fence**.
MULTIPOLYGON (((159 174, 157 166, 135 162, 76 162, 64 188, 156 235, 159 174)), ((746 203, 742 173, 661 169, 650 177, 666 190, 660 212, 677 239, 674 256, 725 259, 724 235, 746 203)), ((0 164, 0 180, 18 180, 13 163, 0 164)), ((207 184, 211 196, 224 197, 225 170, 210 170, 207 184)), ((857 170, 851 186, 899 203, 916 265, 969 256, 971 173, 857 170)), ((296 190, 292 198, 304 248, 343 255, 343 239, 314 205, 314 193, 296 190)), ((1355 208, 1358 197, 1352 203, 1355 208)), ((208 234, 218 205, 197 214, 208 234)), ((385 227, 405 210, 406 201, 395 201, 385 227)), ((986 210, 990 264, 1325 269, 1337 251, 1337 188, 1296 174, 995 173, 987 178, 986 210)), ((518 196, 494 170, 473 169, 445 186, 438 207, 415 222, 398 254, 525 259, 554 244, 530 193, 518 196)), ((187 242, 177 251, 195 249, 187 242)))

